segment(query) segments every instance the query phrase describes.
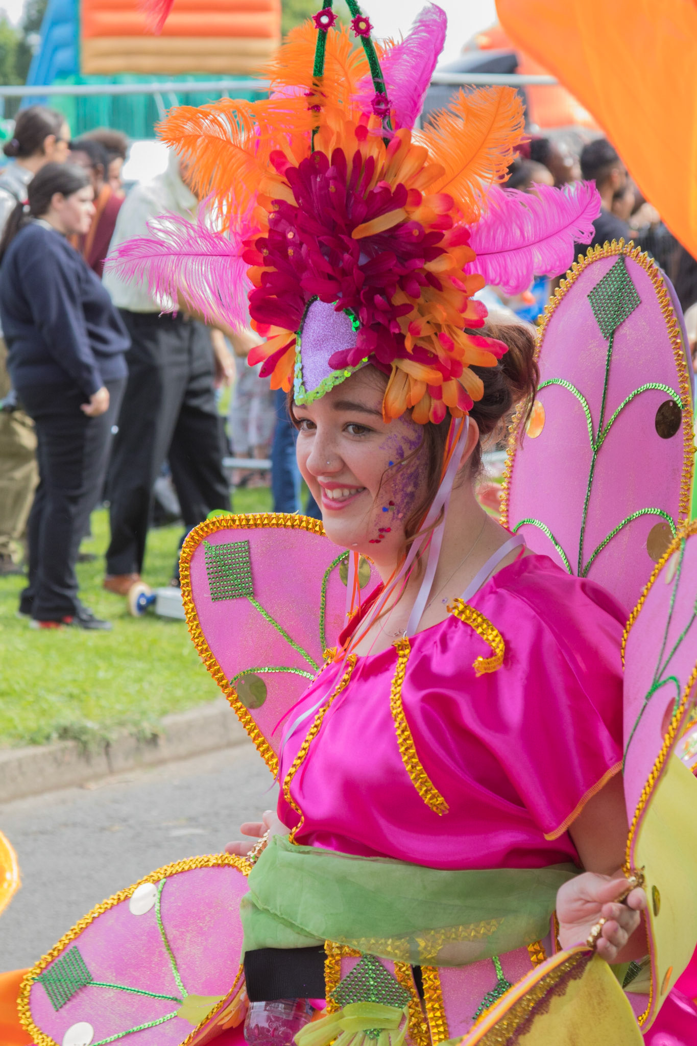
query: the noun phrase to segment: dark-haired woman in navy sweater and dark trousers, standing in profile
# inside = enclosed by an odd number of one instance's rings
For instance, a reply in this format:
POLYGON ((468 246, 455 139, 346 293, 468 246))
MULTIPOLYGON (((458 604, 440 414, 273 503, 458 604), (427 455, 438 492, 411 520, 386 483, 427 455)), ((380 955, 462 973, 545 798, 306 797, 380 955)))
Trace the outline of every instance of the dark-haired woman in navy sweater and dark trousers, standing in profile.
POLYGON ((107 630, 77 597, 75 563, 101 490, 125 388, 129 335, 109 294, 67 237, 94 215, 89 176, 48 163, 0 241, 0 316, 13 385, 32 417, 40 483, 29 516, 29 585, 20 613, 36 628, 107 630))

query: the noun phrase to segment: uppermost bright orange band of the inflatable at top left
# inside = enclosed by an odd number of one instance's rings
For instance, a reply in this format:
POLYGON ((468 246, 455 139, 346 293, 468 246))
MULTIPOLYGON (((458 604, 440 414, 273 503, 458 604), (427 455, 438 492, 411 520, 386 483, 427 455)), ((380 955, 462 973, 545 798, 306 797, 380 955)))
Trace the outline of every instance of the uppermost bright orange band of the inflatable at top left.
MULTIPOLYGON (((280 35, 279 0, 175 0, 163 37, 255 37, 280 35)), ((149 37, 137 0, 83 0, 82 37, 149 37)))

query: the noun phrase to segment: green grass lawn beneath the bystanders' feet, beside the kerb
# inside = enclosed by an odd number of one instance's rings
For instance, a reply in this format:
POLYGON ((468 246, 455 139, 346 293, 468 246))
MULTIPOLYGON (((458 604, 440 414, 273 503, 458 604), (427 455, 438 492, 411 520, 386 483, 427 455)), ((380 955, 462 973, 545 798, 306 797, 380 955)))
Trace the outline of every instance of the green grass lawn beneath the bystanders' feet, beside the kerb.
MULTIPOLYGON (((268 488, 234 495, 237 513, 271 510, 268 488)), ((34 632, 16 616, 22 577, 0 577, 0 746, 42 745, 72 737, 90 743, 121 727, 149 734, 168 712, 211 701, 219 690, 189 639, 184 621, 129 615, 125 599, 101 589, 107 513, 92 517, 94 538, 84 551, 94 563, 78 566, 80 597, 110 633, 79 629, 34 632)), ((152 530, 144 579, 155 586, 171 577, 179 527, 152 530)))

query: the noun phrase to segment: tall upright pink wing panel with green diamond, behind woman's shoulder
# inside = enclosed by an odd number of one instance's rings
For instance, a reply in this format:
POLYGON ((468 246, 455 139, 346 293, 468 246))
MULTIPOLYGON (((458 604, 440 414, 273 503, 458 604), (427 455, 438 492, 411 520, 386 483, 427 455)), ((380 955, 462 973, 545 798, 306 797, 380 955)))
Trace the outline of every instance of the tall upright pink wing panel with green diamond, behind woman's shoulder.
POLYGON ((627 611, 690 508, 684 345, 650 258, 622 244, 589 251, 548 305, 536 402, 509 442, 505 525, 627 611))

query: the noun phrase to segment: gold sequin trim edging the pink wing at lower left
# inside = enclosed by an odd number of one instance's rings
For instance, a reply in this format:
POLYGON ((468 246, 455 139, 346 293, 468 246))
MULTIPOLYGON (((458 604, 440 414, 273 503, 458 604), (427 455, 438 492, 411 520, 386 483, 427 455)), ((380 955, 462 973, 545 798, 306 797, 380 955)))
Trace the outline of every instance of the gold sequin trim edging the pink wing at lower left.
MULTIPOLYGON (((237 870, 241 871, 245 877, 249 876, 252 870, 252 865, 246 858, 234 857, 231 854, 206 854, 202 857, 189 857, 183 861, 175 861, 172 864, 166 864, 163 868, 157 868, 155 871, 152 871, 149 876, 139 879, 137 883, 134 883, 132 886, 127 886, 124 890, 119 890, 118 893, 114 893, 111 897, 102 901, 101 904, 96 905, 91 912, 88 912, 87 915, 84 915, 82 919, 75 923, 75 925, 71 927, 71 929, 63 935, 63 937, 61 937, 57 945, 55 945, 50 952, 47 952, 46 955, 42 956, 39 962, 37 962, 37 964, 29 970, 20 987, 20 996, 17 1000, 20 1023, 31 1039, 34 1046, 60 1046, 60 1044, 51 1039, 50 1036, 43 1032, 41 1028, 38 1028, 33 1023, 31 1009, 29 1007, 29 994, 31 992, 31 985, 40 974, 43 973, 46 967, 49 965, 53 959, 57 958, 59 955, 66 950, 68 945, 73 941, 75 937, 79 936, 83 930, 90 926, 98 915, 102 915, 104 912, 109 911, 110 908, 113 908, 114 905, 118 905, 122 901, 127 901, 131 894, 137 890, 139 886, 142 886, 143 883, 159 883, 162 879, 169 879, 171 876, 176 876, 180 871, 190 871, 192 868, 223 867, 237 868, 237 870)), ((234 988, 238 983, 239 976, 240 974, 238 972, 232 988, 234 988)), ((203 1028, 205 1024, 215 1016, 215 1013, 223 1006, 224 1003, 225 999, 223 999, 210 1014, 206 1015, 204 1021, 198 1028, 194 1028, 182 1046, 187 1046, 187 1044, 193 1040, 194 1034, 196 1034, 201 1028, 203 1028)))

